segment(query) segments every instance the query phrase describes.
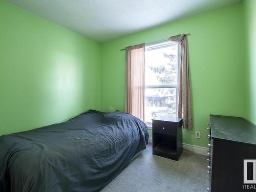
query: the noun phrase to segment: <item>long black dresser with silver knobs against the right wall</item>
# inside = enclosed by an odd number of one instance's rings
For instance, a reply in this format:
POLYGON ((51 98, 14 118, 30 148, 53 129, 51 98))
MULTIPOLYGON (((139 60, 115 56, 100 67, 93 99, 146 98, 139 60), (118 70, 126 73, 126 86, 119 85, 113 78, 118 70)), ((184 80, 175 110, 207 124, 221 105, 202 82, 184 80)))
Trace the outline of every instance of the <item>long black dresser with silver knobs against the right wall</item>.
POLYGON ((241 117, 210 115, 211 192, 256 191, 256 126, 241 117))

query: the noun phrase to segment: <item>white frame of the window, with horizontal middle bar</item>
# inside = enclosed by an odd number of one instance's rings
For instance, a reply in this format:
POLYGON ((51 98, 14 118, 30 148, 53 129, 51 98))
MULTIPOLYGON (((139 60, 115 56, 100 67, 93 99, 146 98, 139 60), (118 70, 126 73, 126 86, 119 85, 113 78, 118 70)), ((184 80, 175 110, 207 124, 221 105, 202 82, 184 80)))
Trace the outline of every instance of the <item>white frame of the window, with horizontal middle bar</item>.
MULTIPOLYGON (((156 42, 152 42, 145 45, 145 52, 149 50, 156 50, 160 48, 170 47, 176 45, 177 46, 177 83, 176 84, 160 84, 160 85, 146 85, 145 84, 145 90, 146 89, 159 89, 159 88, 176 88, 176 117, 178 117, 178 102, 179 102, 179 71, 180 71, 180 51, 181 51, 181 44, 177 42, 169 41, 168 39, 160 40, 156 42), (161 45, 162 44, 162 45, 161 45)), ((145 54, 146 55, 146 54, 145 54)), ((146 67, 146 62, 145 62, 146 67)), ((145 74, 146 75, 146 74, 145 74)), ((152 122, 145 121, 146 124, 150 123, 150 127, 152 127, 152 122)))

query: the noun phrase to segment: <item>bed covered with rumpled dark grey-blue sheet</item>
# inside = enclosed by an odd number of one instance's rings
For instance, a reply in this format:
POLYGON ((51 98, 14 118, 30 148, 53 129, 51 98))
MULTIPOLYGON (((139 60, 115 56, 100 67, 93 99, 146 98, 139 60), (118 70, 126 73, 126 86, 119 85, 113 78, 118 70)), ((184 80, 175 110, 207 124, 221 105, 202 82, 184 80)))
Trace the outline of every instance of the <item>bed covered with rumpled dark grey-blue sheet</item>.
POLYGON ((0 137, 0 191, 99 191, 146 148, 147 126, 119 111, 0 137))

